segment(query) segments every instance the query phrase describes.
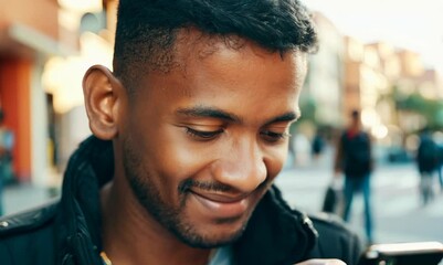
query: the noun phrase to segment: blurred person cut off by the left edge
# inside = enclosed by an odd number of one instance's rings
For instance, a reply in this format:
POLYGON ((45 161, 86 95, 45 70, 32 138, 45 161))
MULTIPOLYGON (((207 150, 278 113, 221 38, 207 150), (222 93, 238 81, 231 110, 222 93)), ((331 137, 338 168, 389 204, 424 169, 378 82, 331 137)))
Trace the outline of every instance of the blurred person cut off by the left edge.
POLYGON ((3 214, 3 188, 12 178, 12 148, 14 135, 4 125, 4 112, 0 109, 0 215, 3 214))

